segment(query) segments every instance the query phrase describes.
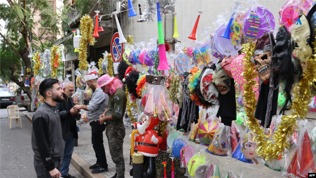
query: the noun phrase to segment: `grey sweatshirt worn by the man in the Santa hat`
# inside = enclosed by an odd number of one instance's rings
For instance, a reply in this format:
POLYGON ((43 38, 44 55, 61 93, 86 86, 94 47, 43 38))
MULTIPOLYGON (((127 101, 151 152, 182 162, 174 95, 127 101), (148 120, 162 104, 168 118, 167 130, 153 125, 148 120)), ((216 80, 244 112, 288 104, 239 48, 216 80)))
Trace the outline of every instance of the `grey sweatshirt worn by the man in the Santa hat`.
POLYGON ((106 106, 109 102, 107 94, 105 94, 101 88, 97 88, 91 97, 91 101, 88 105, 87 118, 90 121, 99 120, 99 116, 103 114, 106 106))

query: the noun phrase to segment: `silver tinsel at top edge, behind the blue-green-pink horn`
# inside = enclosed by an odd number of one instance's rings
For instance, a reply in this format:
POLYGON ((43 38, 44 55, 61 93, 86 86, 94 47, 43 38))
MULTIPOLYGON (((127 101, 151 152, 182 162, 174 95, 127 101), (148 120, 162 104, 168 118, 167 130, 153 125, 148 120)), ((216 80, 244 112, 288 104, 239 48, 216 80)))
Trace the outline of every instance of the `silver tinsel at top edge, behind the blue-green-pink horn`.
MULTIPOLYGON (((147 0, 147 6, 143 11, 143 18, 147 20, 147 23, 154 22, 154 16, 157 12, 156 6, 157 0, 147 0)), ((161 15, 172 12, 174 9, 175 0, 159 0, 161 15)))

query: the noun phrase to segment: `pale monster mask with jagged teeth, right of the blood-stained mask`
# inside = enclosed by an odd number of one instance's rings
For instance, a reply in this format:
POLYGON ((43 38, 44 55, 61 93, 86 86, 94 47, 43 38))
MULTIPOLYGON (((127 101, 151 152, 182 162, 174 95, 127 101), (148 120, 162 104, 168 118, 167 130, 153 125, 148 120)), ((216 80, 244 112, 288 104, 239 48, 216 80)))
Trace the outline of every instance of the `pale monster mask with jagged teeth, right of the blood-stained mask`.
POLYGON ((224 69, 221 66, 221 62, 219 62, 216 66, 215 73, 212 76, 213 84, 218 92, 220 92, 222 95, 226 94, 230 90, 230 77, 229 75, 224 71, 224 69))

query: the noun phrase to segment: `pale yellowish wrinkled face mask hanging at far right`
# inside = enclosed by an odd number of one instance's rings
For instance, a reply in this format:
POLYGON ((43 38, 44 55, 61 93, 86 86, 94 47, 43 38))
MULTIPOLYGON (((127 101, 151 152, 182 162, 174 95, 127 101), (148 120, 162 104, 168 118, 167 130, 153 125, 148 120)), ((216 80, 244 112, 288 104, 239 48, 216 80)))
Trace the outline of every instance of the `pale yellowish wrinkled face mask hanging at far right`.
POLYGON ((313 51, 309 45, 311 30, 308 21, 304 15, 301 16, 302 24, 294 25, 291 38, 294 43, 293 56, 301 61, 303 71, 307 68, 306 62, 312 56, 313 51))

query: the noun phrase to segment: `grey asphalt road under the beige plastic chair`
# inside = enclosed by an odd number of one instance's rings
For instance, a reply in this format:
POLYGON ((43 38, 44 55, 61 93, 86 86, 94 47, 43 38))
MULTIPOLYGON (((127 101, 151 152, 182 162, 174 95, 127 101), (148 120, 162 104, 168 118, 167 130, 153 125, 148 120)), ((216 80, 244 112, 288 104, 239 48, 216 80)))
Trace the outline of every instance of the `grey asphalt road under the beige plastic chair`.
MULTIPOLYGON (((20 108, 19 127, 12 120, 12 129, 9 128, 9 118, 6 107, 0 107, 0 177, 2 178, 34 178, 36 173, 33 166, 33 150, 31 145, 32 123, 24 117, 20 108)), ((17 111, 16 111, 17 116, 17 111)), ((70 165, 70 175, 76 178, 83 176, 70 165)))

